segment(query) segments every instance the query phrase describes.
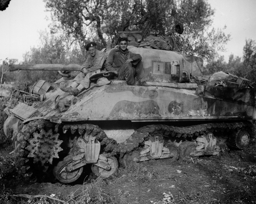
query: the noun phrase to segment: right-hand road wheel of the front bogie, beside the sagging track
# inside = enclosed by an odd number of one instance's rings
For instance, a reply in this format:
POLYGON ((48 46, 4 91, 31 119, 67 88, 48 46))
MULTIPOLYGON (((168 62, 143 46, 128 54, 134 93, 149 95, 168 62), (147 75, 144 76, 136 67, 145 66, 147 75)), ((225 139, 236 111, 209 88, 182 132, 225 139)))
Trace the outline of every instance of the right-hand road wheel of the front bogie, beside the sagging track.
POLYGON ((101 167, 98 167, 96 165, 92 165, 91 169, 92 172, 98 176, 98 177, 102 177, 102 178, 108 178, 110 177, 112 174, 115 174, 117 172, 118 169, 118 161, 116 159, 116 157, 110 156, 107 157, 108 159, 108 164, 110 165, 111 169, 110 170, 105 170, 102 169, 101 167))

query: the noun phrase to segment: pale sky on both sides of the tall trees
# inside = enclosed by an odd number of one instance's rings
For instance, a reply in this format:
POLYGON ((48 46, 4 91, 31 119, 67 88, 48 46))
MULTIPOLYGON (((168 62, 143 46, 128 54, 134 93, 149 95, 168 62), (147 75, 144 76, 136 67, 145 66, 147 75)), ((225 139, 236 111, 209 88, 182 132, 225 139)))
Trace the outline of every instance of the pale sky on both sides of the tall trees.
MULTIPOLYGON (((227 44, 228 56, 242 57, 245 39, 256 40, 256 0, 208 0, 215 8, 214 27, 231 34, 227 44)), ((11 0, 5 11, 0 11, 0 60, 23 59, 23 54, 39 43, 39 31, 47 29, 49 12, 43 0, 11 0)))

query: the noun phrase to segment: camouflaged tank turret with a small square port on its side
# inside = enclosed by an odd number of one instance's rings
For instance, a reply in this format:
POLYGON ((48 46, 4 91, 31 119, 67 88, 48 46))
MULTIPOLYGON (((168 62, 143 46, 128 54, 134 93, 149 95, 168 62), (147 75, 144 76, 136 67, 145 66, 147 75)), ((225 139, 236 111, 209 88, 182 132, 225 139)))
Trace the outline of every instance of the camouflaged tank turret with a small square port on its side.
POLYGON ((202 76, 203 60, 199 57, 134 46, 128 46, 128 49, 142 56, 143 68, 149 82, 183 82, 183 71, 193 77, 202 76))

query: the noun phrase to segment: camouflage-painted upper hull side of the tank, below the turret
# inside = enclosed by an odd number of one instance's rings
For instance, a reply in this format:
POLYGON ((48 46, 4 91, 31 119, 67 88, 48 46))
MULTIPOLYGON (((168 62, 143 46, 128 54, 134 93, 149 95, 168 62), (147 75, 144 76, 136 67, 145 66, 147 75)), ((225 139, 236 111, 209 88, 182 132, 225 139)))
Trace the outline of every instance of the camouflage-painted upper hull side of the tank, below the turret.
POLYGON ((66 96, 59 89, 35 108, 44 119, 58 118, 61 122, 251 120, 255 119, 255 106, 253 95, 250 100, 247 97, 251 94, 248 91, 250 89, 234 91, 233 96, 228 96, 230 90, 224 90, 223 96, 209 92, 205 96, 207 93, 198 94, 198 89, 104 85, 88 90, 63 113, 55 109, 55 97, 61 95, 72 100, 73 96, 66 96))

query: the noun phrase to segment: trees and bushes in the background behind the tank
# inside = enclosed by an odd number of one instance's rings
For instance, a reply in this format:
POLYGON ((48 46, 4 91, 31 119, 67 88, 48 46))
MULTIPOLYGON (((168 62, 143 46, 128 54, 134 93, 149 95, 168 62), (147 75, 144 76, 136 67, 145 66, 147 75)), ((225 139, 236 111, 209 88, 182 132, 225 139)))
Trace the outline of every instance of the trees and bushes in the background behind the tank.
MULTIPOLYGON (((224 71, 255 82, 255 41, 246 40, 242 58, 231 54, 225 62, 218 51, 225 50, 230 34, 224 33, 225 28, 212 28, 214 10, 206 0, 44 1, 52 14, 51 32, 41 33, 40 46, 24 54, 23 64, 82 64, 88 41, 96 41, 97 48, 102 49, 108 40, 116 44, 119 31, 140 30, 144 37, 172 35, 181 54, 204 59, 205 75, 224 71), (183 34, 175 32, 177 24, 183 25, 183 34)), ((16 61, 9 59, 8 63, 16 61)), ((16 71, 5 73, 3 80, 31 85, 39 79, 53 82, 58 77, 56 71, 16 71)))

